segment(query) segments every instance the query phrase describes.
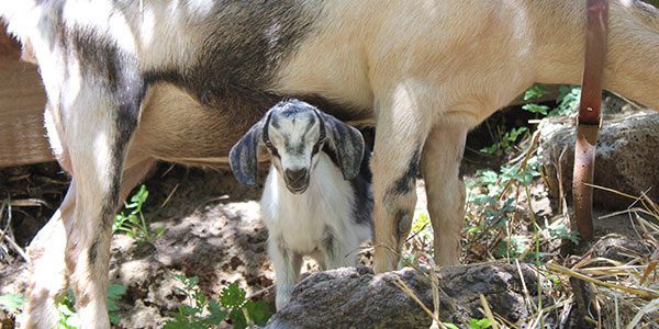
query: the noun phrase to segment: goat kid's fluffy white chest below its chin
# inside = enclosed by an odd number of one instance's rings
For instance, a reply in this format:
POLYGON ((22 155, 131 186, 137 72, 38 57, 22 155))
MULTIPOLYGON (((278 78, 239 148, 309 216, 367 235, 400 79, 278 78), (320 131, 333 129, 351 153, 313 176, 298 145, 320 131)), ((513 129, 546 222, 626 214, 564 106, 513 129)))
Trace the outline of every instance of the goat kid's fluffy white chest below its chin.
POLYGON ((355 196, 350 182, 327 155, 320 152, 319 157, 302 194, 291 193, 279 171, 270 167, 260 201, 270 239, 302 254, 321 247, 327 228, 342 232, 353 220, 355 196))

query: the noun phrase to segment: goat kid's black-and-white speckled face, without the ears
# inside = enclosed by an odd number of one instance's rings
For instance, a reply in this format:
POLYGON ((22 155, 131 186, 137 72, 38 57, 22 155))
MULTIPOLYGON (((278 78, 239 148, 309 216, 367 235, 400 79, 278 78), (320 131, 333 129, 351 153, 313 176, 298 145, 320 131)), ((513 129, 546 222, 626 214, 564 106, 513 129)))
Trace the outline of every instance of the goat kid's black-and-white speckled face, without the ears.
POLYGON ((300 194, 309 188, 311 171, 326 140, 325 127, 321 115, 306 103, 280 105, 271 112, 264 143, 286 186, 300 194))

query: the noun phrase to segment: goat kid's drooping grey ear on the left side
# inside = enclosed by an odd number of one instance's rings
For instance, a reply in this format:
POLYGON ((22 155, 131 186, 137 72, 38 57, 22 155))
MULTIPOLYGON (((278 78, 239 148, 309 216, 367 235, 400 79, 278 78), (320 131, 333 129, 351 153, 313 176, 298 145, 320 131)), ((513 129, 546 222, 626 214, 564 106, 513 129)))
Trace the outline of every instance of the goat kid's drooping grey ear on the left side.
POLYGON ((264 127, 268 123, 268 112, 264 118, 254 124, 228 152, 228 164, 236 180, 246 185, 256 185, 258 172, 258 152, 261 147, 264 127))

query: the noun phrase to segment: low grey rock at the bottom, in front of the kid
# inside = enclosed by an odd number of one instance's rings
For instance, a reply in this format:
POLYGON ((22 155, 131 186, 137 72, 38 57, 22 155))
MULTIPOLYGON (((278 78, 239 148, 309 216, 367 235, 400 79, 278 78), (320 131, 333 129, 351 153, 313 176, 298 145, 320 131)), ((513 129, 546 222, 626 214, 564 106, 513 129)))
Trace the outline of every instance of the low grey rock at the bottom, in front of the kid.
MULTIPOLYGON (((537 274, 527 264, 521 271, 529 292, 537 291, 537 274)), ((515 322, 526 308, 517 266, 503 263, 471 264, 438 271, 440 320, 463 325, 483 318, 480 295, 492 311, 515 322)), ((432 318, 395 285, 400 277, 433 309, 429 279, 414 269, 373 275, 368 268, 344 268, 314 273, 300 282, 291 302, 266 328, 428 328, 432 318)))

